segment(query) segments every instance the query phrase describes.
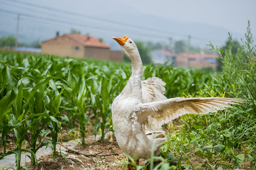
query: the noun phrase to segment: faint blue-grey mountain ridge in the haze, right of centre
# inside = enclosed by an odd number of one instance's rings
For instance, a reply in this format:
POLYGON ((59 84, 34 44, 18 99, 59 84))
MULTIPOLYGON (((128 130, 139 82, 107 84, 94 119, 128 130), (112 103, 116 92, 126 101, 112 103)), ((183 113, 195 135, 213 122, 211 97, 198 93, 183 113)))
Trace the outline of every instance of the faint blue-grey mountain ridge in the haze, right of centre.
MULTIPOLYGON (((129 16, 125 14, 106 14, 105 18, 112 18, 115 20, 119 20, 120 22, 133 25, 138 25, 139 27, 148 28, 148 30, 152 31, 142 31, 141 29, 137 29, 134 31, 136 35, 135 39, 139 40, 147 40, 147 41, 163 41, 163 37, 166 37, 166 42, 168 42, 168 38, 172 37, 174 41, 176 40, 187 40, 188 35, 191 36, 191 45, 192 46, 204 46, 212 42, 216 45, 223 45, 225 41, 228 39, 228 30, 225 28, 215 27, 213 25, 208 25, 204 23, 182 23, 177 22, 175 20, 168 20, 159 18, 157 16, 150 15, 133 15, 129 14, 129 16), (147 32, 149 37, 139 37, 137 34, 142 33, 145 35, 147 32), (168 34, 169 33, 169 34, 168 34), (151 38, 150 35, 159 34, 160 39, 151 38)), ((246 27, 246 25, 245 25, 246 27)), ((128 28, 128 27, 127 27, 128 28)), ((125 30, 127 30, 127 28, 125 30)), ((124 30, 124 31, 125 31, 124 30)), ((128 29, 129 30, 129 29, 128 29)), ((134 29, 130 29, 130 32, 133 32, 134 29)), ((240 40, 243 35, 236 32, 231 32, 234 39, 240 40)), ((131 33, 133 34, 133 33, 131 33)))

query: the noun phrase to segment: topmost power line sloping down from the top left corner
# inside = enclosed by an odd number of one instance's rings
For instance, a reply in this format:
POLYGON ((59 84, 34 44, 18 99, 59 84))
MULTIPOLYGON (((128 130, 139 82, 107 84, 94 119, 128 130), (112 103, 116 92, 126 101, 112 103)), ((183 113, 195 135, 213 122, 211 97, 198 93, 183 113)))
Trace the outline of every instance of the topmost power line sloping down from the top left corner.
MULTIPOLYGON (((109 20, 109 19, 102 19, 102 18, 99 18, 99 17, 96 17, 96 16, 80 14, 80 13, 78 13, 78 12, 72 12, 72 11, 67 11, 67 10, 61 10, 61 9, 58 9, 58 8, 52 8, 52 7, 42 6, 42 5, 36 5, 36 4, 34 4, 34 3, 28 3, 28 2, 19 1, 19 0, 3 0, 3 1, 12 2, 12 3, 18 3, 19 5, 27 5, 27 6, 32 6, 32 7, 36 7, 36 8, 43 8, 43 9, 45 9, 45 10, 60 12, 60 13, 69 14, 69 15, 73 15, 73 16, 80 16, 80 17, 82 17, 82 18, 97 20, 97 21, 100 21, 100 22, 118 24, 118 25, 122 25, 122 26, 126 26, 126 27, 132 27, 132 28, 136 28, 136 29, 143 29, 143 30, 146 30, 146 31, 152 31, 152 32, 162 33, 162 34, 168 35, 168 37, 169 37, 170 35, 175 35, 175 36, 180 36, 180 37, 187 37, 187 36, 188 36, 188 35, 184 35, 184 34, 181 34, 181 33, 166 32, 166 31, 164 31, 164 30, 158 30, 158 29, 152 29, 152 28, 141 27, 141 26, 139 26, 139 25, 127 24, 127 23, 118 22, 118 21, 109 20)), ((206 39, 206 38, 204 38, 204 37, 197 37, 197 36, 193 36, 193 39, 200 40, 200 41, 209 41, 209 39, 206 39)), ((214 41, 222 42, 221 40, 214 40, 214 41)))

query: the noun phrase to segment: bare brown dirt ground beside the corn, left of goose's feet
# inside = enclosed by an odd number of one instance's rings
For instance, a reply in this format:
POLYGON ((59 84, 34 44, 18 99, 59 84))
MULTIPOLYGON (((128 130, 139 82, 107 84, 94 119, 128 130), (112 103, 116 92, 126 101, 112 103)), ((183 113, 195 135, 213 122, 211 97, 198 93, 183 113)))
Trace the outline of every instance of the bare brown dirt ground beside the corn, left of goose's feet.
POLYGON ((102 152, 102 154, 116 154, 109 156, 84 156, 76 154, 72 151, 67 151, 68 154, 58 156, 56 160, 52 160, 52 155, 42 156, 39 160, 38 167, 30 167, 30 170, 36 169, 124 169, 126 165, 123 162, 127 160, 126 156, 120 150, 117 145, 117 141, 114 139, 111 141, 105 140, 104 142, 99 141, 88 141, 85 147, 76 146, 74 149, 88 154, 102 152))

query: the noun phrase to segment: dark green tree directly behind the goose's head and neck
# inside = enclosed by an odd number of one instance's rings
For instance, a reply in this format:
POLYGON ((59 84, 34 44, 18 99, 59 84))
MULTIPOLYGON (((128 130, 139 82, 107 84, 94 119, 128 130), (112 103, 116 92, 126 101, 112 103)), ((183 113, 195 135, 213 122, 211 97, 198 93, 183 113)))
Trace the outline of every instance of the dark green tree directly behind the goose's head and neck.
MULTIPOLYGON (((150 56, 150 48, 148 46, 144 46, 143 42, 135 41, 137 48, 139 50, 139 54, 141 55, 141 60, 143 63, 151 63, 151 56, 150 56)), ((126 57, 123 53, 123 61, 130 62, 130 59, 126 57)))

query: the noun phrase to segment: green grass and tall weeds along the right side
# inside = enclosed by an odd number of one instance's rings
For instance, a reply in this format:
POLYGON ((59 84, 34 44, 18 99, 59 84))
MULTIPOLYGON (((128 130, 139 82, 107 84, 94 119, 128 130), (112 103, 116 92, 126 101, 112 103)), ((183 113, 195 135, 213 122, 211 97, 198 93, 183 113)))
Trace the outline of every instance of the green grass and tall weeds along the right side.
MULTIPOLYGON (((230 36, 231 40, 232 37, 230 36)), ((232 109, 206 115, 185 115, 183 122, 168 134, 162 155, 177 168, 255 169, 256 161, 256 59, 250 27, 245 41, 232 53, 233 44, 221 56, 223 71, 214 76, 196 96, 221 96, 247 99, 232 109), (199 159, 201 158, 201 159, 199 159), (194 160, 200 160, 197 164, 194 160), (247 161, 246 165, 242 165, 247 161), (249 163, 248 163, 249 162, 249 163)))

